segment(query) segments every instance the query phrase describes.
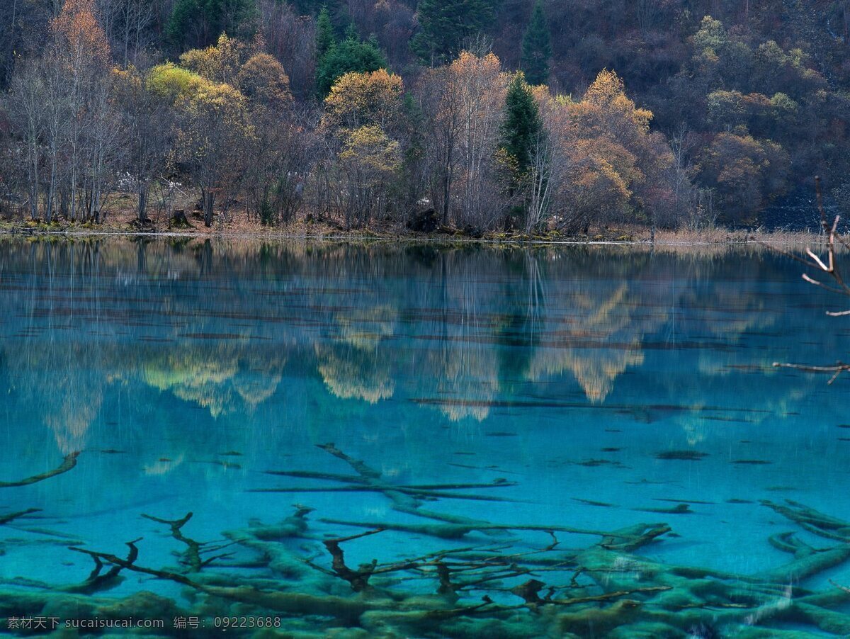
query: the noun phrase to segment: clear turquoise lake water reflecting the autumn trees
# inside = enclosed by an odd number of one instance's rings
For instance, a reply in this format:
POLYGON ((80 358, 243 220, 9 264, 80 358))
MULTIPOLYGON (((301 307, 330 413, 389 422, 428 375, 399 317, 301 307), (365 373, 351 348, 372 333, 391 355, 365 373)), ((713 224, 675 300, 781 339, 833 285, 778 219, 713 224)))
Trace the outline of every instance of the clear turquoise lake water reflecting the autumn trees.
POLYGON ((3 240, 0 618, 850 633, 847 378, 771 366, 847 346, 843 300, 800 273, 751 250, 3 240))

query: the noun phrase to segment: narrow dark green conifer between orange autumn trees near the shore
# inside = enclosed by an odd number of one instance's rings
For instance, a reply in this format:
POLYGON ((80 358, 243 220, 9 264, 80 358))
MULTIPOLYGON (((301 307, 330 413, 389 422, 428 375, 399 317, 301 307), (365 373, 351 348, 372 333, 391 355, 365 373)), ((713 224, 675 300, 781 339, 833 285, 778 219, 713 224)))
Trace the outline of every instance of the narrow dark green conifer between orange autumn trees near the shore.
POLYGON ((501 149, 516 162, 515 178, 521 178, 528 171, 542 134, 540 110, 520 71, 507 88, 505 120, 501 124, 501 149))

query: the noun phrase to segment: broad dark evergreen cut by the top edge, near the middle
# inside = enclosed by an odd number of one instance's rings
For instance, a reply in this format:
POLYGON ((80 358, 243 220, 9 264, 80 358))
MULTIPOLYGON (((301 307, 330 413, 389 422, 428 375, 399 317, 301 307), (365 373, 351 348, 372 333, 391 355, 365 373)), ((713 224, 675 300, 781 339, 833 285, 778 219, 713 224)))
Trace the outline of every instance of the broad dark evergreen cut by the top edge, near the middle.
POLYGON ((411 51, 428 65, 459 54, 463 39, 484 31, 495 18, 491 0, 420 0, 416 15, 419 32, 411 51))

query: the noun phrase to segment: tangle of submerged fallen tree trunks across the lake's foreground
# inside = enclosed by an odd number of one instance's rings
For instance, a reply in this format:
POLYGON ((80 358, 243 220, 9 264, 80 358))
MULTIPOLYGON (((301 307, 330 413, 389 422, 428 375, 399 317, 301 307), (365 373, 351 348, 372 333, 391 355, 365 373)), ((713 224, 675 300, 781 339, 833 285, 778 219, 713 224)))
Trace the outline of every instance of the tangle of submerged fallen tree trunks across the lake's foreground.
MULTIPOLYGON (((295 505, 294 512, 279 523, 252 522, 244 529, 224 532, 223 541, 201 542, 184 533, 192 513, 176 519, 144 514, 141 517, 166 527, 177 542, 176 567, 145 566, 142 539, 127 542, 125 557, 70 546, 69 550, 94 562, 88 579, 71 585, 7 581, 14 589, 0 598, 0 616, 71 609, 80 611, 76 617, 116 619, 275 615, 281 618, 284 631, 297 636, 326 636, 345 628, 354 632, 351 636, 850 634, 850 614, 844 612, 850 591, 840 585, 813 590, 803 584, 847 563, 850 523, 801 503, 763 501, 759 507, 772 509, 830 545, 815 548, 793 531, 774 534, 766 543, 787 553, 788 561, 756 574, 735 574, 643 556, 645 549, 663 543, 672 533, 666 523, 634 523, 604 531, 490 523, 443 514, 421 508, 426 500, 433 502, 431 493, 441 499, 450 498, 451 490, 514 484, 399 486, 333 444, 322 444, 320 449, 356 474, 272 474, 364 487, 384 495, 392 511, 433 523, 311 520, 313 508, 295 505), (367 530, 330 537, 329 525, 367 530), (547 534, 548 543, 530 546, 527 538, 519 536, 529 532, 547 534), (466 538, 470 543, 389 561, 349 563, 348 545, 375 535, 406 535, 405 547, 415 547, 416 540, 423 546, 466 538), (570 539, 591 535, 598 540, 586 547, 564 547, 564 535, 570 539), (225 547, 228 551, 221 552, 225 547), (152 585, 157 580, 172 582, 188 597, 181 604, 147 591, 122 598, 102 594, 127 574, 153 578, 147 582, 152 585)), ((286 487, 286 492, 297 491, 297 487, 286 487)), ((239 636, 254 631, 231 630, 239 636)))

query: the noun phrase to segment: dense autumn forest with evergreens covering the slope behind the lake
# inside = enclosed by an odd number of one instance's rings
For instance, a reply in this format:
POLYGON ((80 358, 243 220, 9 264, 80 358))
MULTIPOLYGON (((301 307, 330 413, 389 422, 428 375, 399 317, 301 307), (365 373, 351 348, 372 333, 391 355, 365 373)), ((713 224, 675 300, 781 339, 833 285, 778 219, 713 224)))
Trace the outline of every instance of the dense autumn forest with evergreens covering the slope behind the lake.
POLYGON ((0 213, 699 229, 815 174, 846 209, 848 25, 850 0, 6 0, 0 213))

